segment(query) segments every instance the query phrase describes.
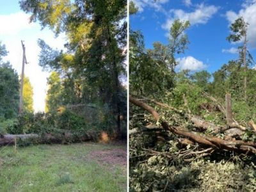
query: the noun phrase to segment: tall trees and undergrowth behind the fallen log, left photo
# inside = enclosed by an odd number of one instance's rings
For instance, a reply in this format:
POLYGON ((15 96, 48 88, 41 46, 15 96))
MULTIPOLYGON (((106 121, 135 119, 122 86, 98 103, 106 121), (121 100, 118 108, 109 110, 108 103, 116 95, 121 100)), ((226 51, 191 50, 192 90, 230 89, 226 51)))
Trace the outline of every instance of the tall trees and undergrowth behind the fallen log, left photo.
MULTIPOLYGON (((7 126, 7 132, 66 135, 94 130, 106 131, 111 138, 126 138, 127 2, 26 0, 19 3, 24 12, 31 14, 31 22, 38 21, 56 36, 64 33, 67 43, 66 51, 55 50, 38 39, 39 65, 51 72, 47 79, 46 113, 31 113, 30 102, 29 109, 17 118, 18 102, 12 102, 13 118, 17 119, 7 126)), ((13 97, 19 99, 18 76, 13 70, 12 73, 17 81, 17 94, 13 97)), ((6 86, 6 92, 14 91, 12 87, 6 86)))

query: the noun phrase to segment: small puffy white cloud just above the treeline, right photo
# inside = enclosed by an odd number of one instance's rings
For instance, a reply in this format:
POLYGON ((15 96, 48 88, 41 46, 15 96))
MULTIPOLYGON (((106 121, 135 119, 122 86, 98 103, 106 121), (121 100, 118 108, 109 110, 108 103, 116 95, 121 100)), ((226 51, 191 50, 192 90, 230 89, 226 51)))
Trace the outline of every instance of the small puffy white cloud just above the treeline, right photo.
POLYGON ((177 61, 179 62, 179 65, 177 65, 178 70, 202 70, 207 67, 207 65, 204 65, 202 61, 196 60, 193 58, 193 56, 187 56, 184 58, 178 58, 177 61))

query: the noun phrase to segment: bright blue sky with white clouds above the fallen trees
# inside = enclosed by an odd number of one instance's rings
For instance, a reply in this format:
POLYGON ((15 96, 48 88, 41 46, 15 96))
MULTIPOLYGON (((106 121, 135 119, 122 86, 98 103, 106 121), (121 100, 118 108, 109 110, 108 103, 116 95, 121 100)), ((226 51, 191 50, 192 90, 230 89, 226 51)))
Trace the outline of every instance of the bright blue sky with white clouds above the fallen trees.
POLYGON ((256 60, 256 0, 249 1, 196 1, 196 0, 134 0, 139 12, 130 17, 133 30, 141 30, 145 45, 168 43, 168 32, 174 19, 189 20, 190 28, 186 33, 189 49, 177 56, 181 69, 208 70, 214 72, 228 60, 236 60, 238 44, 230 44, 226 37, 229 26, 239 16, 248 26, 248 44, 256 60))

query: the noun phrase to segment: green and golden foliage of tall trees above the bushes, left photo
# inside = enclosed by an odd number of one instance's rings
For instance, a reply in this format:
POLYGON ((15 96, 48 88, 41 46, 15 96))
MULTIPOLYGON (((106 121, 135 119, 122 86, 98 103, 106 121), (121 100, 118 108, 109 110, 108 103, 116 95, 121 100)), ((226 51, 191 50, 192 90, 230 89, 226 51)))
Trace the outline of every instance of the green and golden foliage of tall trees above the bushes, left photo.
MULTIPOLYGON (((61 77, 56 86, 51 85, 58 79, 49 79, 47 110, 56 111, 60 104, 107 103, 115 118, 124 116, 120 79, 126 77, 127 1, 23 0, 20 8, 31 13, 31 21, 38 20, 42 28, 48 26, 56 35, 65 32, 68 38, 67 52, 38 40, 40 66, 61 77)), ((120 134, 120 120, 115 122, 120 134)))

